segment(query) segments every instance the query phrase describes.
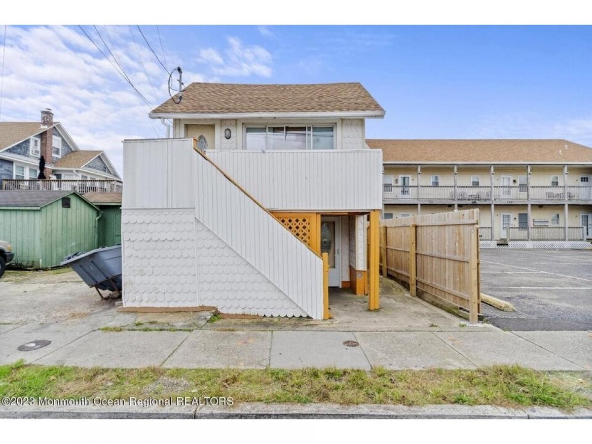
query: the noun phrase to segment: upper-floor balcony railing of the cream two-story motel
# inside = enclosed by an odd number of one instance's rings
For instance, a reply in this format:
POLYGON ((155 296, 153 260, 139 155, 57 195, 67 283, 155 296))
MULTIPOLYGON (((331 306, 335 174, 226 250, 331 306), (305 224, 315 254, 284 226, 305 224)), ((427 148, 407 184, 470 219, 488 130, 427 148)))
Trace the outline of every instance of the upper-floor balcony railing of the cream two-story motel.
POLYGON ((592 201, 592 186, 465 186, 465 185, 390 185, 384 184, 385 201, 454 202, 573 202, 592 201))

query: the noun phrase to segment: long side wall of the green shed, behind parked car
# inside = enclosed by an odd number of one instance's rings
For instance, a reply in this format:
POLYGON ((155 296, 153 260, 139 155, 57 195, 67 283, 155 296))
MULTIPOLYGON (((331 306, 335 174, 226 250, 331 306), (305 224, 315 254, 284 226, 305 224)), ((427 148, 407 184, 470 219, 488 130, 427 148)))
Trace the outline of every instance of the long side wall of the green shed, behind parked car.
POLYGON ((25 268, 39 268, 41 258, 39 239, 40 210, 0 208, 0 239, 12 244, 14 259, 11 264, 25 268))

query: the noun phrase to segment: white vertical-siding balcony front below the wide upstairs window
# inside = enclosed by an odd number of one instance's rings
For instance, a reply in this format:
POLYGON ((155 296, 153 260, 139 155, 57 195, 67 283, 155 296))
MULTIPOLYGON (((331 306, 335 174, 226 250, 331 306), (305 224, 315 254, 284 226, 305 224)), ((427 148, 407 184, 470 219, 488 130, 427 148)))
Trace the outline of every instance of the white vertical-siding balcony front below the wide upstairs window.
POLYGON ((210 150, 206 155, 269 210, 382 209, 381 150, 210 150))

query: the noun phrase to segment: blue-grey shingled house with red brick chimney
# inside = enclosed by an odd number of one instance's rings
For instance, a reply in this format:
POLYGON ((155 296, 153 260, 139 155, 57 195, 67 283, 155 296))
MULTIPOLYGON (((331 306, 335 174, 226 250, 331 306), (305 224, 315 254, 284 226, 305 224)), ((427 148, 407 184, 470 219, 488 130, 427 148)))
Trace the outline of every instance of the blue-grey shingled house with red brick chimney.
MULTIPOLYGON (((79 149, 62 124, 53 121, 51 110, 41 111, 40 122, 0 122, 0 182, 4 189, 38 187, 24 181, 37 179, 40 156, 46 162, 46 179, 121 181, 107 155, 79 149)), ((66 184, 69 182, 53 185, 55 189, 66 184)))

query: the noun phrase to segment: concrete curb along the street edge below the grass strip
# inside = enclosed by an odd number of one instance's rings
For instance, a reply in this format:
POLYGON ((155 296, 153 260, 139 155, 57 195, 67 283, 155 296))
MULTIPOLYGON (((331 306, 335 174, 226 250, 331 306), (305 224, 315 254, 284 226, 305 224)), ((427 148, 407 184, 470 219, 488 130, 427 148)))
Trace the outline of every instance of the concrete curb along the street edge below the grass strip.
POLYGON ((496 406, 381 406, 361 404, 262 404, 233 407, 76 406, 0 407, 0 418, 12 419, 592 419, 592 410, 570 413, 556 408, 496 406))

